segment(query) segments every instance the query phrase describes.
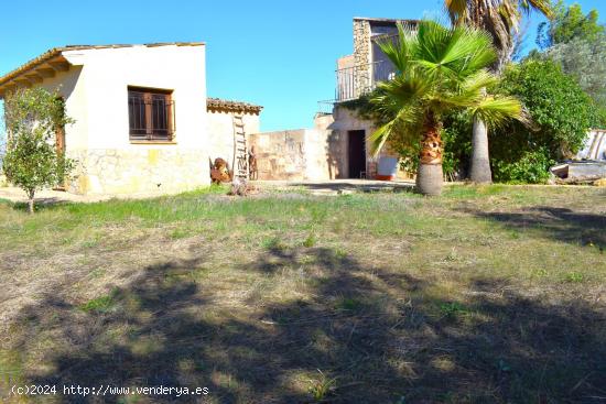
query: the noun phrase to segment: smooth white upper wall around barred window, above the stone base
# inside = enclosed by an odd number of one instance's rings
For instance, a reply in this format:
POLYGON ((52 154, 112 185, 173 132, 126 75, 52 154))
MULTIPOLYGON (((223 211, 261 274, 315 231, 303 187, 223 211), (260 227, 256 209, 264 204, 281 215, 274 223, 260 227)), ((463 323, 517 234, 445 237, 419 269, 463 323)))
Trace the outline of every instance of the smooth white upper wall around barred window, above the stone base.
MULTIPOLYGON (((73 64, 84 64, 82 77, 79 77, 84 88, 73 103, 85 106, 87 111, 85 122, 87 131, 78 133, 77 137, 88 138, 88 149, 125 150, 151 146, 131 144, 129 141, 129 86, 173 90, 176 144, 163 145, 164 148, 204 148, 207 140, 204 133, 206 124, 204 45, 68 51, 64 56, 73 64)), ((59 76, 56 79, 59 79, 59 76)))

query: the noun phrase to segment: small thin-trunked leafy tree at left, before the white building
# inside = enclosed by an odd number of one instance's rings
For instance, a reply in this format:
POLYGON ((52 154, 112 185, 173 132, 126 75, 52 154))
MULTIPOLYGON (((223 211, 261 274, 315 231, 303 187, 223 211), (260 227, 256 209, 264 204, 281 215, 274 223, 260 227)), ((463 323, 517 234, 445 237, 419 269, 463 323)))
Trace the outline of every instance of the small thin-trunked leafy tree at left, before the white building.
POLYGON ((57 94, 43 88, 19 89, 4 99, 8 133, 2 167, 9 182, 22 188, 34 212, 35 193, 64 181, 74 162, 56 148, 57 130, 73 120, 66 117, 57 94))

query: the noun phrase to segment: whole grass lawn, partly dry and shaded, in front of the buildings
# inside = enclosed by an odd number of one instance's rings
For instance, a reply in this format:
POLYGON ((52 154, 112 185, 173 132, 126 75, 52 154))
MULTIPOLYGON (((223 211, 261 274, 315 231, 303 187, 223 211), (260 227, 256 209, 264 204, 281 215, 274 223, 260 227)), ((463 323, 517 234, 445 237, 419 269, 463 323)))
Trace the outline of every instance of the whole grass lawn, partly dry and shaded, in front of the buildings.
POLYGON ((223 193, 0 203, 2 402, 606 403, 604 188, 223 193))

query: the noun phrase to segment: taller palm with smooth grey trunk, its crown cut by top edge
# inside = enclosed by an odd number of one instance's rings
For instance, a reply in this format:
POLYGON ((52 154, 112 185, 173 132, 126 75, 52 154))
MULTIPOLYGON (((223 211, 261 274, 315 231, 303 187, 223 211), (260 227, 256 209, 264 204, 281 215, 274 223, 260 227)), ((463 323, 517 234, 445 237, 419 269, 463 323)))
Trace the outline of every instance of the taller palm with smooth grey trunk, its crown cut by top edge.
MULTIPOLYGON (((538 11, 548 18, 553 15, 550 0, 444 0, 444 6, 454 25, 469 25, 490 34, 498 54, 491 69, 497 74, 511 61, 522 14, 538 11)), ((475 183, 493 181, 488 130, 480 119, 474 120, 470 177, 475 183)))

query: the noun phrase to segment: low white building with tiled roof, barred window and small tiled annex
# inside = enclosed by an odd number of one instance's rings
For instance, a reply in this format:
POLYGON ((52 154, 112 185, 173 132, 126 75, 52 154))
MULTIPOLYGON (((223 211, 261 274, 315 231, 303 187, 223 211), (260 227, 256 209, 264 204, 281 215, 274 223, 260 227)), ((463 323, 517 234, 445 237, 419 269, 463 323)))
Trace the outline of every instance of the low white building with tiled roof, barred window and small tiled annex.
POLYGON ((53 48, 0 78, 0 98, 34 86, 57 90, 75 120, 56 142, 77 160, 72 193, 208 185, 216 157, 246 168, 259 132, 261 107, 206 96, 204 43, 53 48))

